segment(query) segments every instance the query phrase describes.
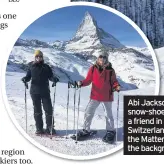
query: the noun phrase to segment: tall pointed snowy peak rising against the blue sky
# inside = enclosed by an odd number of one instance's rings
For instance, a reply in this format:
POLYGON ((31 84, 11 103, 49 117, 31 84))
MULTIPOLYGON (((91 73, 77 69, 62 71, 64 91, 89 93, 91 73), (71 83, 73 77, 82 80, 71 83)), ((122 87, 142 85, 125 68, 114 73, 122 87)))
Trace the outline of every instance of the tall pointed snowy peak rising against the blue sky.
POLYGON ((92 51, 102 48, 124 48, 116 38, 98 27, 96 20, 86 12, 75 36, 66 44, 71 52, 92 51))

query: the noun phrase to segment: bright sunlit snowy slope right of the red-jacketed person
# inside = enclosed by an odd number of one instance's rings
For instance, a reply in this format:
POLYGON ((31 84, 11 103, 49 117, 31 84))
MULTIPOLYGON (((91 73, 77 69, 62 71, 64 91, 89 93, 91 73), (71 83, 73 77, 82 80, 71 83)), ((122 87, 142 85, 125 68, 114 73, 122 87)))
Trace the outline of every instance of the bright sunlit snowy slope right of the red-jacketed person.
POLYGON ((118 76, 127 83, 135 84, 138 88, 155 87, 155 72, 151 58, 134 49, 123 49, 109 52, 118 76))

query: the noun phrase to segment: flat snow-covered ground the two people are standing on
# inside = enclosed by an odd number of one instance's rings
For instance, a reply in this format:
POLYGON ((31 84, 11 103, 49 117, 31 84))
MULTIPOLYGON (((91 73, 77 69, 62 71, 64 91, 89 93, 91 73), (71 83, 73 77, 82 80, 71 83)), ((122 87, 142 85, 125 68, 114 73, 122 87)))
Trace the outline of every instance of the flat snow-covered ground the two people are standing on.
MULTIPOLYGON (((16 120, 20 126, 25 130, 25 109, 24 109, 24 85, 21 82, 21 78, 25 73, 6 72, 6 90, 9 100, 9 104, 12 112, 15 115, 16 120)), ((95 117, 92 121, 91 129, 97 129, 98 133, 86 141, 79 141, 77 144, 71 138, 66 139, 66 101, 67 101, 67 84, 58 83, 56 88, 56 104, 55 104, 55 129, 57 130, 57 136, 51 140, 48 137, 35 136, 35 122, 33 118, 33 105, 30 98, 29 90, 27 92, 27 107, 28 107, 28 134, 41 145, 47 147, 50 150, 74 156, 86 156, 94 155, 102 152, 106 152, 114 147, 120 145, 123 142, 123 96, 120 95, 120 108, 119 108, 119 122, 118 122, 118 142, 117 144, 107 144, 102 142, 102 137, 105 135, 105 114, 103 112, 102 105, 100 105, 96 111, 95 117)), ((53 100, 54 88, 51 88, 51 97, 53 100)), ((152 94, 153 90, 146 91, 152 94)), ((74 90, 70 90, 70 105, 69 105, 69 136, 74 133, 73 131, 73 93, 74 90)), ((134 90, 122 92, 123 94, 144 94, 145 90, 134 90)), ((82 129, 84 110, 88 104, 90 95, 90 87, 81 89, 81 104, 80 104, 80 118, 79 129, 82 129)), ((116 125, 116 109, 117 109, 117 93, 115 93, 115 101, 113 102, 113 115, 116 125)), ((77 90, 78 99, 78 90, 77 90)), ((77 104, 76 104, 77 106, 77 104)), ((77 108, 76 108, 77 109, 77 108)), ((43 112, 43 120, 45 121, 45 115, 43 112)), ((45 124, 45 122, 44 122, 45 124)))

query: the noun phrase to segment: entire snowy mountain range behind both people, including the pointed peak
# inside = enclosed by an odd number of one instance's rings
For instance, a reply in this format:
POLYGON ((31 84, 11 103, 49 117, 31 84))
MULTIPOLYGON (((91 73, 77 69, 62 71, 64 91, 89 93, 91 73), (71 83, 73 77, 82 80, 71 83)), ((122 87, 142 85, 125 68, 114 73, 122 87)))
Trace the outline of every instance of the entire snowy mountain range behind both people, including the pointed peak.
POLYGON ((34 60, 36 48, 43 51, 45 62, 51 65, 63 82, 84 79, 89 67, 95 63, 100 52, 105 50, 123 90, 155 86, 154 64, 148 49, 125 47, 99 28, 88 12, 70 41, 46 43, 36 39, 18 39, 7 70, 25 70, 27 64, 34 60))

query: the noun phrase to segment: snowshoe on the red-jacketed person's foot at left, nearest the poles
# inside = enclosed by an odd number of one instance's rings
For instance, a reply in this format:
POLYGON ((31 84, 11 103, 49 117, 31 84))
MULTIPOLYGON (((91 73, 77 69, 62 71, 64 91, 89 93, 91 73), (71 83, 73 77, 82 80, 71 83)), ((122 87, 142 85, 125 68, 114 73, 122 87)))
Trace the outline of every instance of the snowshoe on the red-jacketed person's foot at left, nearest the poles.
MULTIPOLYGON (((77 133, 77 141, 84 141, 87 140, 88 138, 94 136, 97 133, 96 130, 94 131, 87 131, 87 130, 82 130, 77 133)), ((72 135, 71 138, 73 140, 76 140, 76 135, 72 135)))

